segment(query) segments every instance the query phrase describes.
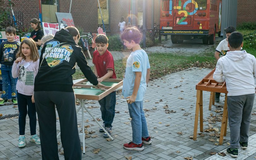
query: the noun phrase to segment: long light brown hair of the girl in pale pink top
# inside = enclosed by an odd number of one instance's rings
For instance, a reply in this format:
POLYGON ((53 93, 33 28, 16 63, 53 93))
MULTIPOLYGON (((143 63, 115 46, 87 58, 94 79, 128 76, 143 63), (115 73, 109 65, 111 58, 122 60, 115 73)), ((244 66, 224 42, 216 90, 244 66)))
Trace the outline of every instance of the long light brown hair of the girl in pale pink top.
POLYGON ((22 57, 22 59, 26 59, 25 55, 22 54, 22 52, 21 52, 21 46, 24 43, 27 44, 31 50, 31 60, 33 62, 37 61, 39 58, 39 54, 38 54, 38 50, 37 50, 37 45, 32 38, 26 38, 21 42, 20 49, 19 49, 18 53, 16 54, 16 58, 22 57))

